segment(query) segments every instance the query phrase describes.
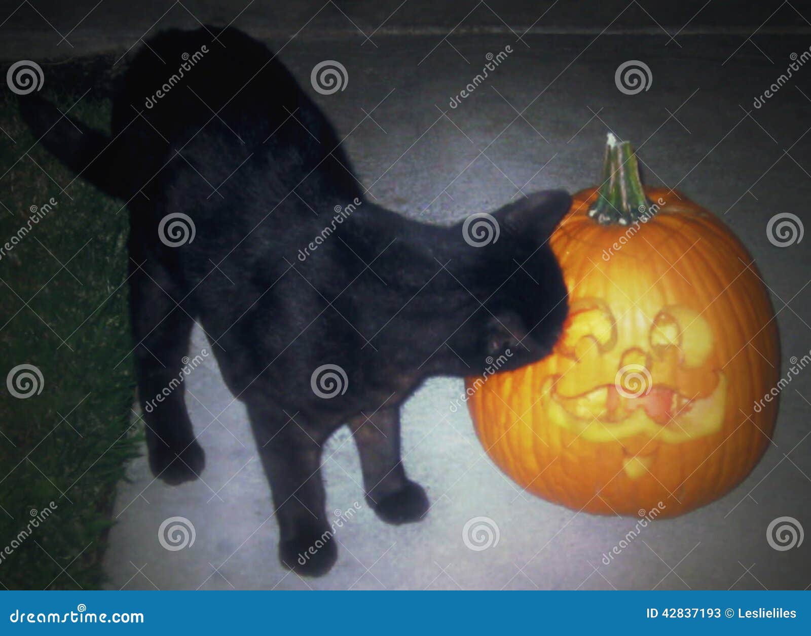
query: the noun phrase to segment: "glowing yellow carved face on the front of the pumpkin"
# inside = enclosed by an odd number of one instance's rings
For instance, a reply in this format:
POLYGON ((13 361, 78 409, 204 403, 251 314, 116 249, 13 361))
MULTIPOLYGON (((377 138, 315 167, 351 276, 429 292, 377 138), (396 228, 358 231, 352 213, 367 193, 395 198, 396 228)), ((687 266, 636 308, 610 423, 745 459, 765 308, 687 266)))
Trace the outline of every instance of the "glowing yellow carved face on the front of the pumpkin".
MULTIPOLYGON (((580 309, 596 300, 576 301, 558 348, 564 360, 541 387, 549 420, 595 442, 639 435, 677 443, 719 431, 727 377, 711 366, 714 339, 706 318, 684 305, 664 307, 650 321, 646 351, 632 326, 620 339, 616 324, 624 321, 609 310, 580 309), (609 377, 612 367, 616 373, 609 377), (580 393, 578 382, 594 388, 580 393)), ((644 314, 638 308, 626 313, 634 323, 644 314)), ((625 470, 647 463, 647 455, 635 455, 625 470)))

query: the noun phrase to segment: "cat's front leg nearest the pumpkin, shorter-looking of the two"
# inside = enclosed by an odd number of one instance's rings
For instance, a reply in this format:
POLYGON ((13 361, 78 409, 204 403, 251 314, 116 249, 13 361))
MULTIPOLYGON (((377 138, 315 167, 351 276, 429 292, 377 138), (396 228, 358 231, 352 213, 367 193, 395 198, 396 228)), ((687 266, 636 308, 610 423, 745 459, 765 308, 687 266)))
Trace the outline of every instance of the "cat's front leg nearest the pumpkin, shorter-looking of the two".
POLYGON ((430 507, 423 487, 405 476, 400 457, 400 408, 380 408, 350 420, 358 445, 367 502, 387 523, 423 519, 430 507))

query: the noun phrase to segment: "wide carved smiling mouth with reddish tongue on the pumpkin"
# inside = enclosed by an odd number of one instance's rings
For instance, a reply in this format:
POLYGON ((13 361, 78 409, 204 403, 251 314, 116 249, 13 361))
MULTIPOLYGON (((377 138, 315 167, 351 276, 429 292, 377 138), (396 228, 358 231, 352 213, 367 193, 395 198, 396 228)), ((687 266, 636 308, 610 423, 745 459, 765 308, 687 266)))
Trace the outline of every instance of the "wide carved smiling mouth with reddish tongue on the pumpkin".
POLYGON ((592 442, 616 442, 638 434, 669 443, 688 442, 723 425, 727 377, 720 371, 714 391, 701 399, 670 386, 654 386, 644 395, 626 397, 613 384, 567 397, 556 390, 558 378, 547 378, 541 393, 549 420, 592 442))

